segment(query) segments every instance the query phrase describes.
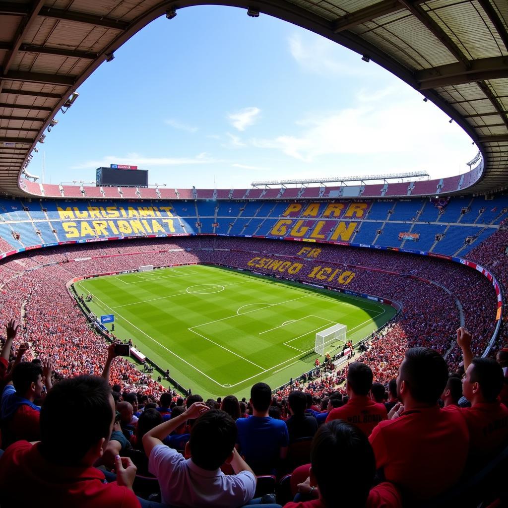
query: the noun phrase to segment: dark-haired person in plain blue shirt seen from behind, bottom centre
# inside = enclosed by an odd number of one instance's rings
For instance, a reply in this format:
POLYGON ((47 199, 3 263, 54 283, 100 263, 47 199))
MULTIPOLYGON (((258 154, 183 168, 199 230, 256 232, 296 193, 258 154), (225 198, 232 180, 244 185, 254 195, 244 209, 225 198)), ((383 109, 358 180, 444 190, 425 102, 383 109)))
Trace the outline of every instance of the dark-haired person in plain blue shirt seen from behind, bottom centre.
POLYGON ((236 421, 237 447, 256 474, 273 474, 288 453, 288 428, 283 420, 268 416, 272 391, 266 383, 250 390, 252 416, 236 421))

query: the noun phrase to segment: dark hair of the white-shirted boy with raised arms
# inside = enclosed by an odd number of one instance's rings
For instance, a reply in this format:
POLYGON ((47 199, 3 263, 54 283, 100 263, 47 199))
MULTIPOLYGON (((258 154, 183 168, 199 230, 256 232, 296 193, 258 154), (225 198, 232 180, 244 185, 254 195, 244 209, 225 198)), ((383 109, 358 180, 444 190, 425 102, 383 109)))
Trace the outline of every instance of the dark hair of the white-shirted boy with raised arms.
POLYGON ((235 421, 225 411, 210 409, 190 431, 190 455, 199 467, 213 471, 224 464, 236 442, 235 421))

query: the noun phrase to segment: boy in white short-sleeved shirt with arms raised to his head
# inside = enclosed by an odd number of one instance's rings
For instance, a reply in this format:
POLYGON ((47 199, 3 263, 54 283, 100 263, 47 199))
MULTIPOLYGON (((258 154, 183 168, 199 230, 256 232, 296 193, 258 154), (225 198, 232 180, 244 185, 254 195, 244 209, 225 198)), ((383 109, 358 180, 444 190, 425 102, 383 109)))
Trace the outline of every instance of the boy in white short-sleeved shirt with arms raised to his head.
POLYGON ((209 409, 203 402, 195 402, 182 415, 148 431, 143 446, 150 472, 159 480, 163 502, 192 508, 235 508, 249 501, 257 480, 235 450, 236 432, 228 414, 209 409), (162 439, 187 419, 197 420, 185 446, 190 458, 185 460, 162 439), (235 474, 225 475, 220 470, 224 463, 230 464, 235 474))

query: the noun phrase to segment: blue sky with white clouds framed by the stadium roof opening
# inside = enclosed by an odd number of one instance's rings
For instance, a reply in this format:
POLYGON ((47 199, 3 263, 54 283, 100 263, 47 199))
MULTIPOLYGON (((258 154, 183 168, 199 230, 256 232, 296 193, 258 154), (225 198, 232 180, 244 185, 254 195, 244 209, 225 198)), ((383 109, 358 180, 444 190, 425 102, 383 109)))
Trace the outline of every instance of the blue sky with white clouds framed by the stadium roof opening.
POLYGON ((170 187, 427 170, 477 152, 432 103, 360 55, 287 22, 201 6, 159 18, 78 89, 34 154, 51 183, 133 164, 170 187))

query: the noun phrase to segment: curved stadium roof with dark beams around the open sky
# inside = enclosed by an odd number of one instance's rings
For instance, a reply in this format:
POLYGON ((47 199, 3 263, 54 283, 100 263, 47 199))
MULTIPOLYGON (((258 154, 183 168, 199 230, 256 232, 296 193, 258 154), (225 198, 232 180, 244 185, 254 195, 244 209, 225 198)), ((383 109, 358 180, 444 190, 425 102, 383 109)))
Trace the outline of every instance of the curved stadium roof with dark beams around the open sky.
POLYGON ((506 0, 0 0, 0 192, 29 195, 18 181, 31 151, 104 60, 153 19, 196 5, 272 15, 375 61, 478 145, 485 172, 470 192, 507 184, 506 0))

